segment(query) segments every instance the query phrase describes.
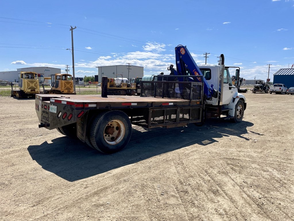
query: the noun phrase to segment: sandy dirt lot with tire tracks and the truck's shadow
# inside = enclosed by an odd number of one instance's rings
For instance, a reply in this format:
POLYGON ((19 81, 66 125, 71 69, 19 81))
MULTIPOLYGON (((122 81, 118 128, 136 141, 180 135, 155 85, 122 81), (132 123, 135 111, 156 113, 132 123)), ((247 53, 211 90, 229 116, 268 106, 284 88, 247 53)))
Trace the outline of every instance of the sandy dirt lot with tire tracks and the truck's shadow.
POLYGON ((294 96, 245 96, 241 123, 134 126, 111 155, 0 97, 0 220, 294 220, 294 96))

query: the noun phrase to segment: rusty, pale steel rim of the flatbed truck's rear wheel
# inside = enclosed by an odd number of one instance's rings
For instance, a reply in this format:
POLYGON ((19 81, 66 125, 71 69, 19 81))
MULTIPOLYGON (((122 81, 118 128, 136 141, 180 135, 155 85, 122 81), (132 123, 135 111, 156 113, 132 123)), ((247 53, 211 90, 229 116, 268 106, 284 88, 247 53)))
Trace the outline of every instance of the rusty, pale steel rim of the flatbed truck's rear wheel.
POLYGON ((115 145, 123 140, 125 133, 126 128, 123 122, 120 120, 113 120, 106 124, 103 137, 107 144, 115 145))

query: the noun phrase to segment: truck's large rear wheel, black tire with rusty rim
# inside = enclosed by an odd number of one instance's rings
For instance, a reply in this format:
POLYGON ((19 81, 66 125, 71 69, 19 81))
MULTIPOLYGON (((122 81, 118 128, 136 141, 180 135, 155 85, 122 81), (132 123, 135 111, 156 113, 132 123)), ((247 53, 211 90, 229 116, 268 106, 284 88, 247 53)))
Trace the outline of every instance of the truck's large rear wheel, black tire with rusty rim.
POLYGON ((128 144, 131 134, 131 121, 120 110, 111 110, 97 116, 90 129, 91 144, 105 154, 123 149, 128 144))

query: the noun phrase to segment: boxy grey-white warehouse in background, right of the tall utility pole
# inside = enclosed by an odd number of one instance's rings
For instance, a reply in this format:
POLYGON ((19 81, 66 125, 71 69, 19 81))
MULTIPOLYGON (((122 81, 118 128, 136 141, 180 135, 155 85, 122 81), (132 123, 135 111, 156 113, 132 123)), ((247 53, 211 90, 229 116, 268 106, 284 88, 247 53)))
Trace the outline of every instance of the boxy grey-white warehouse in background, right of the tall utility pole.
POLYGON ((144 67, 133 66, 133 65, 113 65, 113 66, 101 66, 98 67, 98 81, 101 82, 103 76, 108 78, 125 77, 135 78, 143 77, 144 67))

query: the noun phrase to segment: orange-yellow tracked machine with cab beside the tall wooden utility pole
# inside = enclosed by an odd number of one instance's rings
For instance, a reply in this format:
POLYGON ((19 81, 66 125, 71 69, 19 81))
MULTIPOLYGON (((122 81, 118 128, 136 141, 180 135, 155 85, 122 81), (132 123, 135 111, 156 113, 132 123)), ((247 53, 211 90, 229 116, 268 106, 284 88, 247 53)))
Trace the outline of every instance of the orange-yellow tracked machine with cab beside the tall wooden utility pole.
POLYGON ((43 92, 44 94, 76 94, 72 76, 70 74, 51 75, 51 84, 43 84, 43 92), (50 90, 46 90, 45 85, 50 86, 50 90))

